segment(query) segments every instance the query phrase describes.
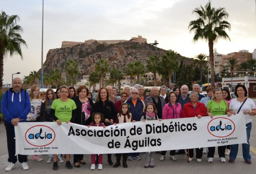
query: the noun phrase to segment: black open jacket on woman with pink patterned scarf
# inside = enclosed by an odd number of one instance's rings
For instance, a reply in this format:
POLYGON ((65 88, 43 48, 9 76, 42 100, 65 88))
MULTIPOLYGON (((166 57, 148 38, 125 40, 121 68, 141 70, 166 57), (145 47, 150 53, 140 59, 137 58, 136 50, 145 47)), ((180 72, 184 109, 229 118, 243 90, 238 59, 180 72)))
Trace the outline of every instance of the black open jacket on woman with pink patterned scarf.
POLYGON ((92 111, 94 108, 94 104, 90 98, 88 98, 89 103, 90 103, 90 108, 88 108, 91 111, 90 118, 85 120, 85 114, 82 112, 82 102, 79 100, 79 97, 73 97, 72 100, 76 103, 76 118, 74 119, 74 123, 76 124, 81 124, 88 126, 92 122, 92 111))

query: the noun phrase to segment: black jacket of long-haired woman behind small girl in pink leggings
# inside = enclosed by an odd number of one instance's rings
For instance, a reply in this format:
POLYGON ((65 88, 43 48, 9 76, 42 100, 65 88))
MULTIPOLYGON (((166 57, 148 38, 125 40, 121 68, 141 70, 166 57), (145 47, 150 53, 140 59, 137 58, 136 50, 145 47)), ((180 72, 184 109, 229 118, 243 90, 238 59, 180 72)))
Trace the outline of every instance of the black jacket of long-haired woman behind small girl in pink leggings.
MULTIPOLYGON (((105 123, 105 119, 108 120, 116 120, 116 107, 113 102, 109 101, 108 99, 105 101, 105 105, 103 105, 102 100, 99 100, 94 104, 93 113, 100 112, 103 114, 103 122, 105 123)), ((108 123, 105 123, 108 126, 108 123)))

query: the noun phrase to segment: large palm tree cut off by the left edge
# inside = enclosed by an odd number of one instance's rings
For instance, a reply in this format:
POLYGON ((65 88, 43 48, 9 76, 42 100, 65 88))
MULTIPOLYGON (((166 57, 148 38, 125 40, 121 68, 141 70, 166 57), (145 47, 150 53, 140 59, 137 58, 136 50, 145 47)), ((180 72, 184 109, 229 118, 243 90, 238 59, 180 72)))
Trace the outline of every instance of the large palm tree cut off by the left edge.
POLYGON ((17 25, 19 20, 18 15, 9 16, 4 11, 0 14, 0 90, 3 86, 4 58, 18 54, 23 59, 21 46, 27 46, 20 35, 23 29, 17 25))

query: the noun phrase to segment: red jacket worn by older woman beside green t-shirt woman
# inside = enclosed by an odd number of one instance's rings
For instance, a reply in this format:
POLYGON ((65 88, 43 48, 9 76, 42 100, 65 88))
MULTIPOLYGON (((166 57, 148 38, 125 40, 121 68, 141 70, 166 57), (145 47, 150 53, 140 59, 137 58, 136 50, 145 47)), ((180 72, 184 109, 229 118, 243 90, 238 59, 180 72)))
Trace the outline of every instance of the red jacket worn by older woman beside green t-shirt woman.
POLYGON ((186 103, 182 110, 182 118, 195 117, 195 116, 206 116, 206 107, 203 103, 197 102, 196 109, 192 102, 186 103))

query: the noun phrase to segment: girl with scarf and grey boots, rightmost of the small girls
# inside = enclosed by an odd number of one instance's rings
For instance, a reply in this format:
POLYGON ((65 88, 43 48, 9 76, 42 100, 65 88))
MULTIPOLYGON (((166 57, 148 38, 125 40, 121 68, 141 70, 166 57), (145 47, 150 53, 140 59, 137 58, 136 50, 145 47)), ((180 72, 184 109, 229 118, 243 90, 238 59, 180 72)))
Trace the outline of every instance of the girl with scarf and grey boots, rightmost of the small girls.
MULTIPOLYGON (((144 114, 141 117, 140 121, 146 121, 146 120, 159 120, 161 121, 162 119, 158 119, 158 116, 156 115, 157 109, 156 106, 152 103, 149 102, 146 104, 144 114)), ((154 167, 154 153, 155 152, 146 152, 145 158, 146 158, 146 163, 144 165, 144 168, 153 168, 154 167)))

